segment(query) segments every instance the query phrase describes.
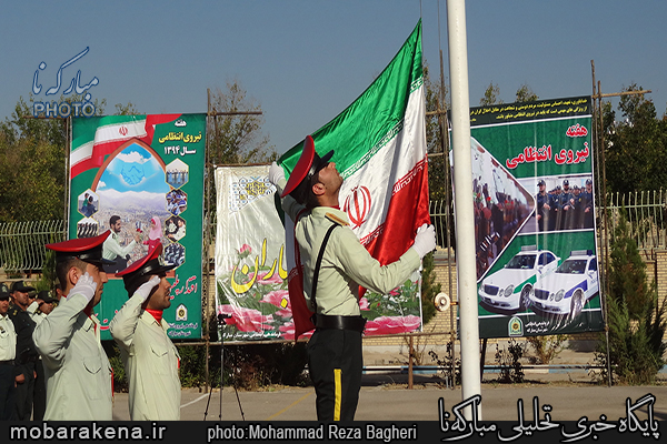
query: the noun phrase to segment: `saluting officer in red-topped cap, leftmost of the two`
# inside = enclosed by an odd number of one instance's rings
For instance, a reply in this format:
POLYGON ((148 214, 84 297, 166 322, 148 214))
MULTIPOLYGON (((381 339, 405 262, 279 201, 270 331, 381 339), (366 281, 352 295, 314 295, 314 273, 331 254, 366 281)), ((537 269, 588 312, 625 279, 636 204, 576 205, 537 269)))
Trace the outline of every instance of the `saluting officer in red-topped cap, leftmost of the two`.
POLYGON ((102 243, 94 238, 46 245, 56 251, 60 303, 37 325, 32 337, 47 376, 46 421, 111 421, 111 366, 92 313, 109 280, 102 243))

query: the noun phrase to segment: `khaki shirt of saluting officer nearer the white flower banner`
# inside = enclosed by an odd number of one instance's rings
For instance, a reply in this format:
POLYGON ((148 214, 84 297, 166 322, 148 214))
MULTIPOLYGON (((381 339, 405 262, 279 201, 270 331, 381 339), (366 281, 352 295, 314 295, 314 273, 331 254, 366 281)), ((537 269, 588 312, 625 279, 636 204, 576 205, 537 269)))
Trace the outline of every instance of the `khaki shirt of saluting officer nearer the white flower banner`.
POLYGON ((161 324, 143 311, 143 299, 133 295, 113 316, 109 330, 120 345, 130 383, 130 417, 133 421, 180 420, 180 356, 161 324))

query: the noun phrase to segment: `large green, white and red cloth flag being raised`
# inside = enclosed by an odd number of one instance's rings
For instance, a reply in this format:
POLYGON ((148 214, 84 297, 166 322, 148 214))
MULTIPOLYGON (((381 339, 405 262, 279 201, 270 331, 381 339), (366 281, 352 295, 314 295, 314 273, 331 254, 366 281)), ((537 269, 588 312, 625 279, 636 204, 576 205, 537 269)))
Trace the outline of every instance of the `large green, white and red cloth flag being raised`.
MULTIPOLYGON (((331 161, 344 176, 340 209, 382 265, 398 260, 412 244, 417 228, 430 223, 424 88, 420 20, 376 81, 311 134, 318 154, 335 151, 331 161)), ((299 142, 280 158, 288 175, 302 147, 299 142)), ((286 231, 290 245, 293 232, 288 224, 286 231)), ((288 262, 289 270, 293 266, 288 262)), ((290 297, 302 299, 302 293, 290 297)), ((296 301, 291 302, 293 310, 296 301)))

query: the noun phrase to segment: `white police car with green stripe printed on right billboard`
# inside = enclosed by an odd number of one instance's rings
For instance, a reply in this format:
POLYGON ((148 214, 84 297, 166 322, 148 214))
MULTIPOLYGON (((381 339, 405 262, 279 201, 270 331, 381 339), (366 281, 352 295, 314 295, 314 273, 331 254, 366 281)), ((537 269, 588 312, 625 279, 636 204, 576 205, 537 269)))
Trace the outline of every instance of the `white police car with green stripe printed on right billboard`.
POLYGON ((479 285, 481 306, 496 313, 516 313, 530 306, 530 292, 537 281, 552 273, 560 258, 537 245, 521 246, 502 269, 479 285))

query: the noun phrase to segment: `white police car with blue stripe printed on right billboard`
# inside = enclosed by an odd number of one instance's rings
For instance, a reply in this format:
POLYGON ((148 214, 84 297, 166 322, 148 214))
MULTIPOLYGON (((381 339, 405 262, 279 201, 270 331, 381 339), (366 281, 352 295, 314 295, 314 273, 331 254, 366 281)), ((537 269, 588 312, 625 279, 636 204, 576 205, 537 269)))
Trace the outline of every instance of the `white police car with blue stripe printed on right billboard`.
POLYGON ((578 316, 586 302, 598 294, 597 259, 591 250, 575 250, 550 276, 539 281, 530 300, 539 314, 578 316))

